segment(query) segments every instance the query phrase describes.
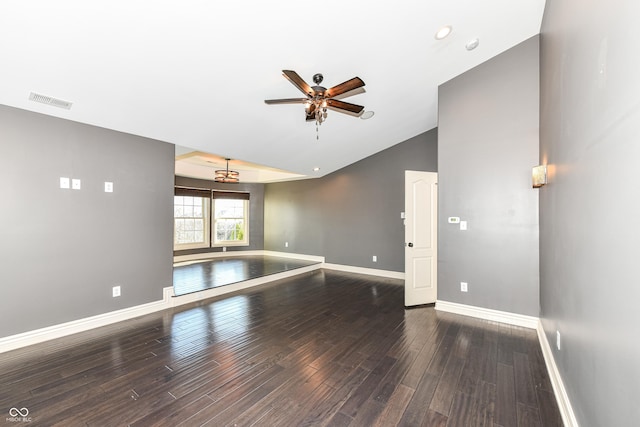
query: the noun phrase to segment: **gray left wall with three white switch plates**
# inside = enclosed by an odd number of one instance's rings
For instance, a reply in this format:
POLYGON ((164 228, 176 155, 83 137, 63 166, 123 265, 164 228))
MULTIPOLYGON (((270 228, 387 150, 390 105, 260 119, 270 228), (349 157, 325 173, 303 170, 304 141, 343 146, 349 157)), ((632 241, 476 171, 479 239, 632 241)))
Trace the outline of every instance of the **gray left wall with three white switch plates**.
POLYGON ((0 337, 162 298, 173 145, 0 106, 0 150, 0 337))

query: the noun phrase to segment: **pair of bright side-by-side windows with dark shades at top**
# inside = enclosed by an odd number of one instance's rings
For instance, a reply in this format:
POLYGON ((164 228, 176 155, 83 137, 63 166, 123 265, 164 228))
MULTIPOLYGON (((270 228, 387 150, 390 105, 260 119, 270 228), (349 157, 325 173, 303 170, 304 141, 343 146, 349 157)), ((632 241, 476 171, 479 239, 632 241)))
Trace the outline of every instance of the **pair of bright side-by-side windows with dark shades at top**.
POLYGON ((249 244, 248 193, 176 187, 173 217, 175 250, 249 244))

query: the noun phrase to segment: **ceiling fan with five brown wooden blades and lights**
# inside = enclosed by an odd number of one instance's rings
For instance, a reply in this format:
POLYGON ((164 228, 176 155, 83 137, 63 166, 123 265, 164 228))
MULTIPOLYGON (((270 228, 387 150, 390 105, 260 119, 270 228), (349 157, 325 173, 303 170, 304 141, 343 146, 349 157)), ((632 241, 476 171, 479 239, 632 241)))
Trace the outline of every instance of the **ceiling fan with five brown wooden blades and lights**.
MULTIPOLYGON (((300 92, 304 93, 306 98, 266 99, 264 101, 266 104, 304 104, 306 120, 308 122, 315 121, 316 126, 327 118, 327 108, 356 116, 361 115, 364 111, 364 107, 361 105, 335 99, 336 96, 364 87, 364 82, 360 77, 354 77, 327 89, 320 86, 324 79, 320 73, 313 75, 313 83, 315 83, 315 86, 309 86, 295 71, 282 70, 282 74, 297 87, 300 92)), ((355 95, 355 93, 351 95, 355 95)))

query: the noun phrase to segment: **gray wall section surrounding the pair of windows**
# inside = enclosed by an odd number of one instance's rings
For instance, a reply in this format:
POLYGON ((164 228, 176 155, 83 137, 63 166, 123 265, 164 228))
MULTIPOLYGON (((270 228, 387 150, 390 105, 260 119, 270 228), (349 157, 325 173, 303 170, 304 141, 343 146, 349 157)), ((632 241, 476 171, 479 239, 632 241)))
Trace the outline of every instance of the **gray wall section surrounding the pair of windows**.
MULTIPOLYGON (((240 177, 242 179, 242 176, 240 177)), ((264 184, 240 182, 221 184, 204 179, 176 176, 176 185, 191 188, 209 188, 213 190, 242 191, 250 194, 249 199, 249 245, 227 246, 227 252, 253 251, 264 249, 264 184)), ((222 248, 203 248, 174 251, 174 255, 189 255, 210 252, 222 252, 222 248)))

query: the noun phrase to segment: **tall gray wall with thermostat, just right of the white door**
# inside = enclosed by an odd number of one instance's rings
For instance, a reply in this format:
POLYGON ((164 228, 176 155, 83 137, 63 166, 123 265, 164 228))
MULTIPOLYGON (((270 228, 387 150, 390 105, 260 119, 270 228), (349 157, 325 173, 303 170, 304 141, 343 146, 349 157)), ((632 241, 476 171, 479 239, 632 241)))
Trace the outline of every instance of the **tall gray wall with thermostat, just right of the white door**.
POLYGON ((438 96, 438 299, 537 317, 538 37, 438 96))

